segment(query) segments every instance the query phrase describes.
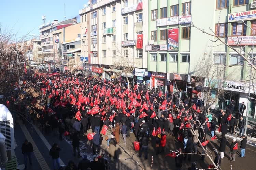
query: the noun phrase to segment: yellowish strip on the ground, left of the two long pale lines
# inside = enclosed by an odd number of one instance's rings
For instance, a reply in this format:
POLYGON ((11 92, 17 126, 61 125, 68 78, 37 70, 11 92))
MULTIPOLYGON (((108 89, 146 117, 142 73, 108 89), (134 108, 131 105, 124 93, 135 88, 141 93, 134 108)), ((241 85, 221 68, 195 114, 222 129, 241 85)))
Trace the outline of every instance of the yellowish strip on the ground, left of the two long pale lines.
POLYGON ((40 153, 37 145, 35 145, 35 142, 34 142, 32 136, 30 135, 30 133, 28 132, 28 129, 26 128, 26 126, 24 124, 20 123, 20 128, 22 129, 26 139, 28 139, 28 141, 30 143, 32 143, 35 158, 37 158, 37 161, 38 161, 40 167, 42 168, 42 170, 50 170, 49 166, 47 165, 47 163, 44 160, 44 157, 40 153))

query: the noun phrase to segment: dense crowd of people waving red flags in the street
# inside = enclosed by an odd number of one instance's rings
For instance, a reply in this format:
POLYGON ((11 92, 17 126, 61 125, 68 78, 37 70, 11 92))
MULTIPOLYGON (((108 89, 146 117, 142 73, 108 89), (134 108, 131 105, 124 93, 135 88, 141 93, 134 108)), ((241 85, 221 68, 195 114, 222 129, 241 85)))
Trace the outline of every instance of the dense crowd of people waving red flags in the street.
MULTIPOLYGON (((45 134, 53 131, 59 134, 60 140, 63 140, 63 135, 70 135, 73 155, 77 157, 82 157, 79 147, 82 136, 87 136, 93 143, 94 160, 89 161, 84 155, 77 166, 70 161, 66 170, 107 169, 108 162, 104 159, 104 154, 99 155, 101 140, 107 141, 108 156, 113 160, 118 157, 116 148, 120 145, 120 134, 124 145, 127 143, 126 138, 134 134, 139 142, 137 156, 141 157, 143 154, 145 159, 148 158, 150 140, 155 143, 155 155, 165 153, 166 135, 174 136, 183 143, 183 148, 177 148, 181 153, 199 153, 198 148, 201 147, 201 154, 205 154, 203 148, 207 147, 209 141, 206 134, 210 130, 214 140, 217 124, 220 126, 222 139, 219 152, 214 151, 214 163, 220 166, 221 159, 224 158, 228 124, 231 134, 234 133, 234 126, 240 129, 240 136, 243 138, 241 157, 244 157, 247 138, 243 134, 245 123, 241 115, 232 116, 228 109, 226 113, 221 110, 218 122, 214 116, 209 121, 204 109, 200 107, 200 100, 181 97, 171 92, 164 93, 159 87, 150 90, 141 84, 128 85, 126 79, 106 80, 77 76, 69 72, 52 77, 34 74, 26 80, 25 87, 40 90, 40 98, 45 101, 45 109, 35 109, 39 118, 37 121, 45 134), (100 133, 104 135, 104 139, 101 139, 100 133)), ((27 145, 28 141, 25 141, 24 148, 29 148, 27 145)), ((238 142, 234 139, 230 146, 230 161, 235 161, 237 145, 238 142)), ((32 150, 24 150, 27 167, 27 158, 30 160, 27 152, 32 150)), ((53 169, 62 168, 59 164, 59 152, 60 148, 55 143, 49 153, 53 159, 53 169)), ((204 158, 205 155, 202 155, 201 159, 204 158)), ((191 161, 191 154, 175 156, 177 169, 182 168, 186 159, 191 161)), ((196 167, 196 163, 191 164, 191 169, 193 167, 196 167)))

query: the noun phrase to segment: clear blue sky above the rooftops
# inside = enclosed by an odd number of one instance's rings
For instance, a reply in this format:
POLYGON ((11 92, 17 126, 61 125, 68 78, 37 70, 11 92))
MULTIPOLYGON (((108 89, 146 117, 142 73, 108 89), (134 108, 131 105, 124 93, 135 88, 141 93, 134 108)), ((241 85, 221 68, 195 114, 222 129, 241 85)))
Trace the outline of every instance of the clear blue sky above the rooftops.
MULTIPOLYGON (((39 35, 39 26, 43 24, 42 16, 46 16, 46 23, 58 19, 64 20, 64 3, 66 3, 66 19, 77 17, 80 22, 79 10, 88 0, 0 0, 0 27, 16 34, 39 35)), ((32 37, 31 37, 32 38, 32 37)))

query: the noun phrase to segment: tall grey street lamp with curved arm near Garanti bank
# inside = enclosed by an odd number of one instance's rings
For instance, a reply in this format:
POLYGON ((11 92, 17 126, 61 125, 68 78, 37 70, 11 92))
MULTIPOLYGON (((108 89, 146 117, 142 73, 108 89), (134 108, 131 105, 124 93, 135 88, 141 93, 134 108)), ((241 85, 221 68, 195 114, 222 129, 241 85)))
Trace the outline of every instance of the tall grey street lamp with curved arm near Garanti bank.
MULTIPOLYGON (((255 36, 255 30, 253 30, 251 27, 249 27, 246 23, 244 23, 243 20, 237 20, 237 23, 239 24, 244 24, 247 28, 250 28, 253 31, 253 45, 252 45, 252 59, 253 59, 253 49, 254 49, 254 36, 255 36)), ((247 131, 247 124, 248 124, 248 115, 250 113, 250 91, 251 91, 251 79, 252 79, 252 67, 250 68, 250 73, 249 73, 249 88, 248 88, 248 101, 247 101, 247 110, 246 110, 246 119, 245 119, 245 128, 244 128, 244 134, 246 135, 247 131)), ((243 116, 243 115, 241 115, 243 116)))

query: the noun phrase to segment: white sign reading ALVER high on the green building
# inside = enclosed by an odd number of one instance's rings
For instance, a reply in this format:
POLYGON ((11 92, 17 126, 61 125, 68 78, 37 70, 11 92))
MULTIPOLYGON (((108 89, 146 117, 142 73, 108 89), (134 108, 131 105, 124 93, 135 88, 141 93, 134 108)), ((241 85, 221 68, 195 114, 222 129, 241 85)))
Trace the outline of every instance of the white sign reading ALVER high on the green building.
POLYGON ((228 22, 236 22, 237 20, 254 20, 256 19, 256 10, 235 12, 228 14, 228 22))

